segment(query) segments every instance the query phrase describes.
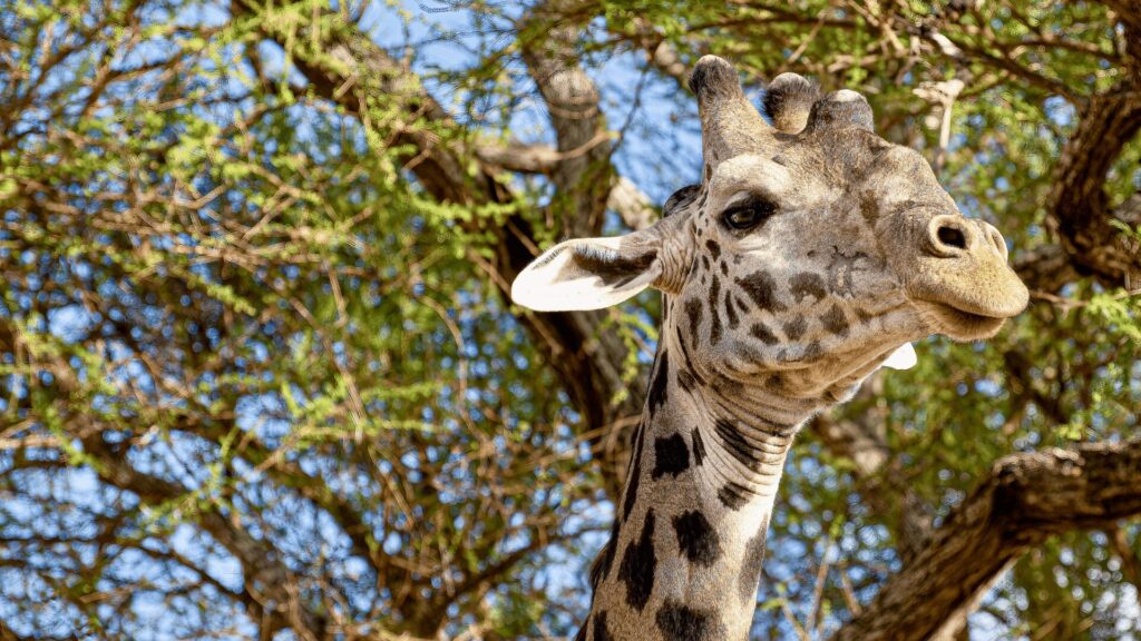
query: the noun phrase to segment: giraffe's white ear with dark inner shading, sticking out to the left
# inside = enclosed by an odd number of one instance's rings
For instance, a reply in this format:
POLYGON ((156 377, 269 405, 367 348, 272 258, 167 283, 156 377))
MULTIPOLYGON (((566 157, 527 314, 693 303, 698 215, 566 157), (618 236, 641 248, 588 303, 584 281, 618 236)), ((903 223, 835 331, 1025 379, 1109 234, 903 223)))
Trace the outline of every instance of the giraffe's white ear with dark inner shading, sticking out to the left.
POLYGON ((543 252, 511 284, 511 300, 536 311, 617 305, 662 275, 661 243, 649 229, 566 241, 543 252))

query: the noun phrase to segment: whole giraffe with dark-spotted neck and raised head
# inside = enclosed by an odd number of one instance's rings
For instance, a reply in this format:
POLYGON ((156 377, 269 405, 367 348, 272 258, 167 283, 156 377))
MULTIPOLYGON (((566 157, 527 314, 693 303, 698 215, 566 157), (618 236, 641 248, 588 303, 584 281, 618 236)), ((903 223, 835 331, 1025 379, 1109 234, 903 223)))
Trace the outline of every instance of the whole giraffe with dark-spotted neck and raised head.
POLYGON ((911 342, 994 335, 1027 305, 992 226, 923 156, 873 131, 858 92, 785 73, 764 108, 705 56, 689 88, 701 185, 653 226, 577 238, 512 284, 535 310, 598 309, 647 287, 663 320, 609 542, 577 639, 745 639, 785 457, 815 413, 911 342))

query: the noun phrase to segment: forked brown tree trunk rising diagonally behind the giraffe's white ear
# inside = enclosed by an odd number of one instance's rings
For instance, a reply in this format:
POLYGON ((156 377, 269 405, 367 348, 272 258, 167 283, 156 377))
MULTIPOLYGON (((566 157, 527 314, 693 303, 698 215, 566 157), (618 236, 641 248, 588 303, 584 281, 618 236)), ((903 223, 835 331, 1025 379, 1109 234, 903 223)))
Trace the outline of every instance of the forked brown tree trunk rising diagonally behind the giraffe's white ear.
MULTIPOLYGON (((246 16, 272 11, 246 0, 236 2, 234 8, 246 16)), ((404 111, 426 125, 402 127, 394 132, 393 144, 414 149, 406 154, 406 167, 438 201, 469 204, 474 209, 488 203, 512 203, 511 188, 499 178, 504 169, 545 173, 551 176, 556 194, 552 211, 544 212, 544 218, 561 220, 567 234, 597 235, 608 201, 629 204, 633 209, 622 213, 645 219, 645 198, 631 197, 631 185, 615 178, 599 96, 575 57, 575 31, 559 26, 552 32, 555 36, 548 38, 550 34, 544 30, 550 27, 553 16, 539 14, 534 18, 529 27, 534 34, 532 46, 525 49, 524 58, 555 124, 557 149, 520 146, 515 149, 520 153, 512 154, 510 148, 493 145, 469 148, 462 141, 442 140, 431 128, 454 128, 447 112, 423 89, 415 74, 354 30, 324 34, 325 56, 297 56, 294 64, 317 96, 351 114, 366 112, 371 96, 398 97, 404 111), (466 170, 471 156, 476 161, 475 176, 466 170), (620 189, 617 198, 610 198, 615 188, 620 189)), ((291 38, 288 24, 258 19, 267 38, 282 46, 291 38)), ((532 219, 515 213, 502 225, 478 218, 471 224, 471 230, 494 238, 493 261, 475 252, 471 260, 488 274, 505 301, 510 300, 511 282, 540 252, 532 219)), ((628 348, 613 332, 602 331, 609 315, 605 310, 559 314, 519 310, 518 317, 583 416, 583 430, 602 465, 607 492, 617 498, 645 390, 640 381, 630 384, 623 380, 622 364, 628 360, 628 348)))

